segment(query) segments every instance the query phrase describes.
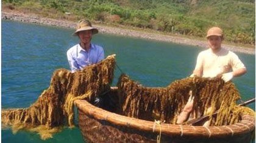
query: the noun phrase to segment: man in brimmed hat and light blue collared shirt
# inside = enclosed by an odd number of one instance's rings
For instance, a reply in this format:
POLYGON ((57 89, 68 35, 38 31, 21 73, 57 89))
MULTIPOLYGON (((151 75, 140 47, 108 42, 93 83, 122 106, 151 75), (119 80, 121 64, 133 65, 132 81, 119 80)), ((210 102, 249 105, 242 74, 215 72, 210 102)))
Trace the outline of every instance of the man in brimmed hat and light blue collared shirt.
POLYGON ((91 43, 91 38, 96 33, 98 33, 98 29, 92 27, 90 21, 80 20, 78 22, 73 36, 78 36, 80 42, 66 52, 68 63, 73 73, 104 59, 103 48, 91 43))

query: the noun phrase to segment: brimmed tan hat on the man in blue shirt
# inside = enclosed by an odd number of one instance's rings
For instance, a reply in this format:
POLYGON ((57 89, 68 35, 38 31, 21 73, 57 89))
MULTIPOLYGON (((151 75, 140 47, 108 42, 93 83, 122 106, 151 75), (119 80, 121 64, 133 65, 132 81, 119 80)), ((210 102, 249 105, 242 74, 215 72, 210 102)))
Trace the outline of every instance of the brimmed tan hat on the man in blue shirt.
POLYGON ((91 26, 91 22, 88 20, 80 20, 77 23, 76 32, 73 33, 73 36, 78 36, 77 33, 85 30, 92 30, 93 35, 98 33, 98 29, 91 26))

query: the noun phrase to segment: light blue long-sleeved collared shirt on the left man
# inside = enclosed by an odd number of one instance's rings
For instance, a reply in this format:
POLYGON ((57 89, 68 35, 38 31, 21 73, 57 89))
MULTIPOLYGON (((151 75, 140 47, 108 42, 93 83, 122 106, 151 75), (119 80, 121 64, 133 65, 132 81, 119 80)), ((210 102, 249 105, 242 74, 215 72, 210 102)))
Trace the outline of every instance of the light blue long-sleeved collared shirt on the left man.
POLYGON ((68 56, 71 71, 74 73, 76 70, 80 70, 91 64, 96 64, 104 59, 104 50, 99 45, 91 44, 90 50, 87 52, 80 44, 77 44, 69 48, 68 52, 66 52, 66 56, 68 56))

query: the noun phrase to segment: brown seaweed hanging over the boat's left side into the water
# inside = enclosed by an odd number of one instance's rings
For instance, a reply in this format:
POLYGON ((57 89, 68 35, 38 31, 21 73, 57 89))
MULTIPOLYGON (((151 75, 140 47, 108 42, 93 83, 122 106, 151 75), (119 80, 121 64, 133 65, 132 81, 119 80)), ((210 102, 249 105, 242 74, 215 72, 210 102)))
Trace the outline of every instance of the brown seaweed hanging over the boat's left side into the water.
POLYGON ((66 123, 74 126, 74 100, 90 101, 110 90, 114 68, 112 55, 75 73, 56 70, 48 89, 30 107, 2 110, 2 124, 12 125, 13 131, 37 131, 42 139, 51 138, 66 123))

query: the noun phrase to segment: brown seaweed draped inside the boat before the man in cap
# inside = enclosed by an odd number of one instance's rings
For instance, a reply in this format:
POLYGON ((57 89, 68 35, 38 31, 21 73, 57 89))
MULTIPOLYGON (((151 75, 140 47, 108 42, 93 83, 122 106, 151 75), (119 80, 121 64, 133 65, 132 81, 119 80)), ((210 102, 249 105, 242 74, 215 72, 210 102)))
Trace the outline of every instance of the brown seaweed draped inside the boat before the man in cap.
POLYGON ((194 96, 193 113, 196 117, 212 115, 219 110, 216 121, 211 125, 233 124, 238 122, 241 113, 254 114, 251 109, 242 110, 236 105, 240 95, 235 85, 225 83, 221 78, 185 78, 165 88, 149 88, 132 81, 127 75, 121 75, 118 81, 120 112, 133 118, 176 124, 190 91, 194 96), (207 111, 209 107, 212 110, 207 111))

